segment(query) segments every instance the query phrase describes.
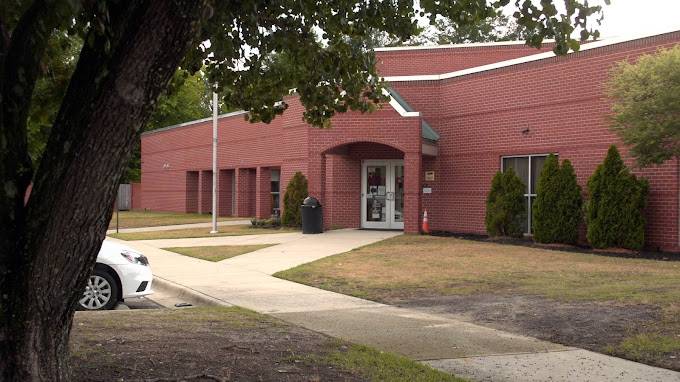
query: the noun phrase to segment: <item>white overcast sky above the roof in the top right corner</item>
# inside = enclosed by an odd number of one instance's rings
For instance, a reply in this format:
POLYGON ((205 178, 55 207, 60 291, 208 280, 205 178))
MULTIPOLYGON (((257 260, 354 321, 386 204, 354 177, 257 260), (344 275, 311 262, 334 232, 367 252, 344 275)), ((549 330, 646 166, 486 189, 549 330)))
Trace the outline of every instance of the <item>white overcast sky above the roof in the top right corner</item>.
POLYGON ((603 37, 680 30, 680 0, 611 0, 599 29, 603 37))

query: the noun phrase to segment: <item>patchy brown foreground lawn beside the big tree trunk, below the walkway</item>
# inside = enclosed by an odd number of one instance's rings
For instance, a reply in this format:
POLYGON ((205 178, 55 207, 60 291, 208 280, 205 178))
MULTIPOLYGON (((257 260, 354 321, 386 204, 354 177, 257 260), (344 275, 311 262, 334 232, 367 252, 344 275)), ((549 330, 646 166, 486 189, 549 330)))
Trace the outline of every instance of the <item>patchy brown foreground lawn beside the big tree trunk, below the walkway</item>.
POLYGON ((78 312, 70 353, 76 381, 461 381, 236 307, 78 312))

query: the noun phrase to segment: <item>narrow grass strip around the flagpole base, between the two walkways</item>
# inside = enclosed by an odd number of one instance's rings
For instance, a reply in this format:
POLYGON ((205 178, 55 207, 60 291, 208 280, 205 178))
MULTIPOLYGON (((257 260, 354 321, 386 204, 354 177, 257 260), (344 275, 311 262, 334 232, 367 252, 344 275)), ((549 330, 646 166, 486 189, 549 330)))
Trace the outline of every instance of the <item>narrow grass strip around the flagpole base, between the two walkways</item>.
POLYGON ((181 239, 189 237, 263 235, 269 233, 296 232, 290 228, 252 228, 250 225, 231 225, 217 227, 218 233, 211 234, 210 228, 187 228, 169 231, 112 233, 109 236, 121 240, 181 239))

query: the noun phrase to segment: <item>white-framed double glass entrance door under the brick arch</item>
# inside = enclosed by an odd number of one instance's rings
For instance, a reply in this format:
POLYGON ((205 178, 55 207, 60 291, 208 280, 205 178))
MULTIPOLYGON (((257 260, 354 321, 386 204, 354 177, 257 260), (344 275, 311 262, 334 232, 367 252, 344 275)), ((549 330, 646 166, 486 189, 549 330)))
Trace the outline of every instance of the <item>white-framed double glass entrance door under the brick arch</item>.
POLYGON ((361 226, 404 229, 403 160, 367 160, 362 163, 361 226))

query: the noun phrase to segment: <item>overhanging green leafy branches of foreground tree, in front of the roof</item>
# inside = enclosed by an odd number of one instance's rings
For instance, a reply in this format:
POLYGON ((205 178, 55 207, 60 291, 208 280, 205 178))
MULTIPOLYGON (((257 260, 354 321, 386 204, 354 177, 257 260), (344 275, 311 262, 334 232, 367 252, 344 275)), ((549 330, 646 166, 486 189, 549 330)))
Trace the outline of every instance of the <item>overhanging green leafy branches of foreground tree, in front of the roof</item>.
MULTIPOLYGON (((598 37, 586 22, 601 15, 599 6, 568 0, 563 11, 553 1, 534 4, 515 0, 513 17, 527 30, 529 43, 540 46, 554 38, 555 51, 578 49, 571 36, 598 37)), ((370 49, 372 31, 406 40, 418 30, 416 16, 434 23, 438 17, 473 25, 494 17, 510 0, 413 1, 311 0, 278 2, 217 2, 201 39, 183 67, 198 70, 207 58, 207 73, 227 105, 250 111, 251 121, 271 121, 288 105, 281 100, 296 89, 305 106, 304 119, 328 126, 338 112, 368 111, 383 99, 381 82, 370 49)))

